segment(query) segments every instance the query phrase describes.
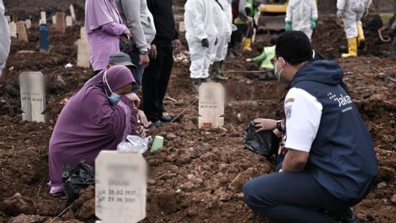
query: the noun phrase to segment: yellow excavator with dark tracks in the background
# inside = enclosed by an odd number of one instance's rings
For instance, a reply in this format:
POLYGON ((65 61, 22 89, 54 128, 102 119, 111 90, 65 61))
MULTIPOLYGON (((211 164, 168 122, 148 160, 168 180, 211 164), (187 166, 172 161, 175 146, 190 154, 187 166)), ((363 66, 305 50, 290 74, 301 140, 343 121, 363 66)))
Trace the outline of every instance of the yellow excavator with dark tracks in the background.
MULTIPOLYGON (((288 0, 267 0, 259 6, 259 29, 281 31, 284 29, 288 0)), ((315 0, 317 3, 317 0, 315 0)))

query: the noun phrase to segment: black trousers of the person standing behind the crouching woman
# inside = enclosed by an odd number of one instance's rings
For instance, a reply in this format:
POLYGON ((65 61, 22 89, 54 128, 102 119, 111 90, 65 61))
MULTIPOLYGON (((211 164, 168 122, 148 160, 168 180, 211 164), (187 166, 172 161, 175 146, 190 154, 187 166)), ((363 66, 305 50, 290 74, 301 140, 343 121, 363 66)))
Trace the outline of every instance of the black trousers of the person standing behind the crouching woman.
POLYGON ((151 59, 142 78, 143 111, 149 121, 158 121, 164 112, 165 93, 174 59, 172 47, 157 46, 157 57, 151 59))

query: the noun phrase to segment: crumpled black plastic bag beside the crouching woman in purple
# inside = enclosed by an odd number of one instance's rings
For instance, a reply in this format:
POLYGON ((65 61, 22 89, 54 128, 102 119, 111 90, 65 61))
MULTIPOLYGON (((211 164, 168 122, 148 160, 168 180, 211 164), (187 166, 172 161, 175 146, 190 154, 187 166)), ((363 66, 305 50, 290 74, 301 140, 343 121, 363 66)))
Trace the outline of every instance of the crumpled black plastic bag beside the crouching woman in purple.
POLYGON ((82 189, 95 183, 95 170, 85 160, 80 161, 75 168, 64 164, 62 180, 67 202, 72 203, 82 189))

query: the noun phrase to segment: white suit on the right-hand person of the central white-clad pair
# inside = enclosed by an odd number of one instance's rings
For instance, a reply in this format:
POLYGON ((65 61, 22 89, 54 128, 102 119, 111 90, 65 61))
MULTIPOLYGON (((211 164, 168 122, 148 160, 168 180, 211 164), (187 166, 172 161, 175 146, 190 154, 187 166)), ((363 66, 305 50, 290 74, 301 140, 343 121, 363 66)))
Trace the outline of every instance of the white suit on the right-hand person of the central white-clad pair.
MULTIPOLYGON (((211 1, 211 0, 209 0, 211 1)), ((224 61, 227 55, 229 40, 231 40, 232 9, 227 0, 215 1, 213 7, 213 16, 216 29, 218 29, 218 44, 215 45, 212 52, 212 63, 215 61, 224 61)))

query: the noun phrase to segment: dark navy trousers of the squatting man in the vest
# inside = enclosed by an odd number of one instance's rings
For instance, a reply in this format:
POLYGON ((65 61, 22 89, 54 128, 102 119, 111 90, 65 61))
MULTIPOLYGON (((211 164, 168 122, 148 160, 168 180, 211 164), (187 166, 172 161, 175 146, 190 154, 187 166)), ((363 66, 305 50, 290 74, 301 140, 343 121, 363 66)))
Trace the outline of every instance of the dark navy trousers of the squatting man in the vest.
POLYGON ((333 197, 307 171, 253 178, 243 187, 243 199, 255 213, 275 222, 288 223, 337 223, 323 211, 343 213, 360 201, 347 202, 333 197))

